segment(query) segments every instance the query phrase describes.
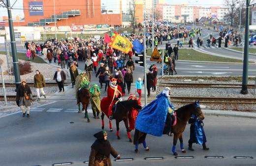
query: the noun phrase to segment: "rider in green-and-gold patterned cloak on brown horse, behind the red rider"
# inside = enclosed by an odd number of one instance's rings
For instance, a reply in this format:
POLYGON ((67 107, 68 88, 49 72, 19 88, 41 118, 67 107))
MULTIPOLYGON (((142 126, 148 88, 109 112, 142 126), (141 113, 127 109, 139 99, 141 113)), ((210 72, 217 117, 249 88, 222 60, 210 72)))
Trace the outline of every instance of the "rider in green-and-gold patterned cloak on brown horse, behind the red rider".
POLYGON ((79 90, 82 88, 90 90, 89 79, 88 79, 85 71, 81 71, 80 75, 78 75, 76 77, 75 87, 76 87, 75 88, 75 98, 77 99, 77 104, 79 104, 80 103, 79 97, 78 97, 79 90))

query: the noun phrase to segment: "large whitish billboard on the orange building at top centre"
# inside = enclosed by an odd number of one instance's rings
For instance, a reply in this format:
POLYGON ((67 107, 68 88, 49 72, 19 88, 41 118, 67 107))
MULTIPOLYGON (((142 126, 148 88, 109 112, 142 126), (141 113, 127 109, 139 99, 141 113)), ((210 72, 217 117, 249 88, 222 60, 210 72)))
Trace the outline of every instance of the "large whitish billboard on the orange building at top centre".
POLYGON ((101 14, 120 14, 120 0, 101 0, 101 14))

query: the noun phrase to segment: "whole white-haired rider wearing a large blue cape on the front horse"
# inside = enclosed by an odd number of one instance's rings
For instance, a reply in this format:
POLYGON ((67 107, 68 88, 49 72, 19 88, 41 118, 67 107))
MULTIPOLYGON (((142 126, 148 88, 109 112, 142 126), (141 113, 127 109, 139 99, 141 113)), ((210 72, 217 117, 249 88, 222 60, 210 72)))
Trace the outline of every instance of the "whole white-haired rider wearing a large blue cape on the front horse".
POLYGON ((138 114, 135 128, 153 136, 162 136, 166 122, 166 134, 171 134, 171 124, 174 121, 174 105, 170 102, 170 88, 166 87, 138 114))

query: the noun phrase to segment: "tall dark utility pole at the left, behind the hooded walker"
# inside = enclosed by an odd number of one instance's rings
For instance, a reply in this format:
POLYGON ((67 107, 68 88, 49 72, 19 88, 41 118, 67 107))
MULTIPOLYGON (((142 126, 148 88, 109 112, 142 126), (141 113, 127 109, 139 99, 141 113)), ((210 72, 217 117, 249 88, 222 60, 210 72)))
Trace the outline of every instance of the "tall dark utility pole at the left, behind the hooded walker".
POLYGON ((21 77, 20 77, 20 68, 19 68, 19 61, 17 57, 17 48, 14 36, 14 29, 12 23, 12 16, 11 16, 11 7, 10 7, 10 0, 6 0, 6 7, 8 12, 8 21, 9 21, 9 29, 10 29, 10 39, 11 39, 11 53, 12 53, 12 61, 13 61, 13 69, 14 69, 14 76, 15 76, 15 85, 16 90, 21 85, 21 77))

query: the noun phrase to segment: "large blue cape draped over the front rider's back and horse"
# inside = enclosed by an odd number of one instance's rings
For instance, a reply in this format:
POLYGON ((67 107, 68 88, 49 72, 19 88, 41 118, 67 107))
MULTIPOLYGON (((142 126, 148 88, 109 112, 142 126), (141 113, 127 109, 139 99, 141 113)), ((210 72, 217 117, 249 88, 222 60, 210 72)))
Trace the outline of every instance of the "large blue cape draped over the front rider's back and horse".
POLYGON ((168 96, 161 93, 139 112, 135 128, 153 136, 162 136, 168 107, 171 107, 168 96))

